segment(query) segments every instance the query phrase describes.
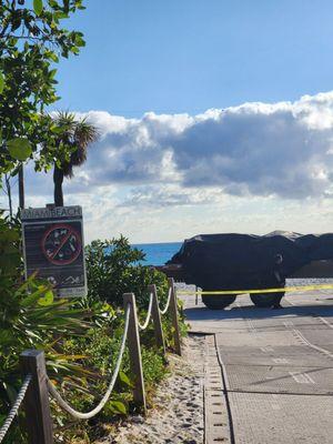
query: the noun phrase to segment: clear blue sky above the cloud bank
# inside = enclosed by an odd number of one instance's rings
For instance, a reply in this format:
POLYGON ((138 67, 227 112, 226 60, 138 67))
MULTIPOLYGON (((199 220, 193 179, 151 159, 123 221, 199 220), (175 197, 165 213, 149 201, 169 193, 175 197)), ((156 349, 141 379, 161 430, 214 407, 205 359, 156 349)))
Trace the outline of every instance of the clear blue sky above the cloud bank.
POLYGON ((59 108, 125 117, 296 100, 332 89, 333 3, 90 0, 61 63, 59 108))

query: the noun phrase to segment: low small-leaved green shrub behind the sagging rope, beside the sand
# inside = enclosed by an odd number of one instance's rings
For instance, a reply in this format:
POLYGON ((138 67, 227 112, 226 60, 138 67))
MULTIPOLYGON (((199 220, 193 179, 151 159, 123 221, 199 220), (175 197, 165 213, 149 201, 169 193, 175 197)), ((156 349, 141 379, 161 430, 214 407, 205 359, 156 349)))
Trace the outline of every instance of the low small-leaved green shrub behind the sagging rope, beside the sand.
MULTIPOLYGON (((119 313, 119 316, 114 317, 109 325, 98 330, 92 329, 85 336, 65 342, 67 354, 75 355, 84 350, 82 365, 97 375, 95 379, 89 381, 89 384, 83 381, 80 387, 64 384, 63 396, 77 410, 91 410, 105 393, 118 359, 122 333, 123 313, 119 313)), ((168 367, 161 353, 150 342, 147 344, 143 336, 141 336, 141 353, 145 391, 148 400, 150 400, 155 385, 168 373, 168 367)), ((89 443, 89 440, 93 441, 104 435, 107 424, 117 423, 121 416, 135 411, 137 406, 133 404, 132 398, 132 381, 133 375, 130 370, 129 352, 125 349, 120 376, 114 390, 104 408, 97 416, 88 422, 78 424, 72 422, 65 413, 58 410, 59 425, 57 431, 59 443, 72 444, 75 442, 74 436, 80 443, 89 443), (69 424, 72 425, 70 428, 69 424)), ((57 408, 56 405, 54 408, 57 408)))

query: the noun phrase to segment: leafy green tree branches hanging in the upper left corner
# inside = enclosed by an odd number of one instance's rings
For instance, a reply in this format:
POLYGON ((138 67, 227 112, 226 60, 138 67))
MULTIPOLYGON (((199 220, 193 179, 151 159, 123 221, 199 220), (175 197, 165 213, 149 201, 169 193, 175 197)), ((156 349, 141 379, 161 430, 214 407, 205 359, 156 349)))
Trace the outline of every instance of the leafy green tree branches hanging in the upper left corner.
POLYGON ((59 129, 44 110, 58 100, 54 64, 84 46, 81 32, 62 27, 79 9, 82 0, 1 1, 0 176, 17 174, 32 158, 38 170, 48 170, 64 155, 56 143, 59 129))

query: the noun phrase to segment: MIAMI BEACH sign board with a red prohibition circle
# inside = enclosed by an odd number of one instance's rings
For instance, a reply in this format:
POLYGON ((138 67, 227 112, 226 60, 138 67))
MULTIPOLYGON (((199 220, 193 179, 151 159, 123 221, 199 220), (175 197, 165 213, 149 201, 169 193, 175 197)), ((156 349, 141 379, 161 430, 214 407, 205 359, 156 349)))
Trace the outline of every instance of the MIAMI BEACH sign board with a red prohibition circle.
POLYGON ((81 206, 21 210, 26 278, 37 272, 59 296, 87 295, 81 206))

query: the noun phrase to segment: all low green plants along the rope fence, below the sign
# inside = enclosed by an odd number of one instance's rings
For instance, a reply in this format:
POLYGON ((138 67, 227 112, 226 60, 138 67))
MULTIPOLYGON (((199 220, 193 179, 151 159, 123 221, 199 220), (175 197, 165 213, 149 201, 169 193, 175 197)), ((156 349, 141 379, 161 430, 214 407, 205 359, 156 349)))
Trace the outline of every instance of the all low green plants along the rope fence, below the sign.
MULTIPOLYGON (((12 230, 17 233, 14 226, 12 230)), ((4 251, 4 242, 0 245, 4 251)), ((7 286, 6 297, 0 299, 0 424, 21 384, 19 355, 23 350, 43 349, 53 383, 75 408, 89 411, 105 392, 114 369, 123 332, 122 292, 135 292, 142 319, 148 307, 148 284, 154 282, 163 294, 162 303, 165 302, 165 276, 139 263, 144 260, 144 254, 133 249, 125 238, 95 241, 87 252, 89 295, 72 301, 54 301, 49 285, 34 276, 18 283, 21 259, 17 255, 18 262, 9 273, 16 279, 7 286), (102 293, 109 284, 112 284, 111 290, 102 293)), ((168 316, 163 317, 163 330, 167 344, 171 344, 172 326, 168 316)), ((155 347, 152 325, 141 334, 141 346, 144 380, 150 393, 168 372, 155 347)), ((131 381, 125 352, 115 390, 97 417, 75 422, 52 403, 57 442, 89 443, 103 435, 107 423, 134 408, 131 381)), ((26 441, 20 428, 12 427, 7 442, 26 441)))

